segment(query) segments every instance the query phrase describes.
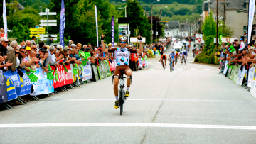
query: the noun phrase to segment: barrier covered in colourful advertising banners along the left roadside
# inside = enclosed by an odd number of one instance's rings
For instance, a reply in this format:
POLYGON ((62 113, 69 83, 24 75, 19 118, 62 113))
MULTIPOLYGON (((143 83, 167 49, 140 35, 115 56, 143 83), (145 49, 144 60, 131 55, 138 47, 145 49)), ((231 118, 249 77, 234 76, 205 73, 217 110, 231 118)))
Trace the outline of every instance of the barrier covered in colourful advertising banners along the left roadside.
MULTIPOLYGON (((76 65, 76 64, 75 64, 76 65)), ((147 66, 147 57, 139 61, 139 67, 147 66)), ((18 72, 7 71, 0 73, 0 104, 4 104, 6 109, 12 109, 6 102, 17 99, 17 101, 27 104, 21 99, 21 96, 30 95, 38 101, 38 95, 54 93, 58 94, 56 89, 68 91, 69 86, 73 89, 75 86, 84 84, 89 79, 98 81, 106 77, 110 77, 115 70, 115 62, 108 60, 101 61, 99 65, 59 65, 51 66, 51 70, 46 73, 42 68, 36 68, 34 73, 22 70, 23 77, 18 72), (80 84, 77 84, 80 82, 80 84)))

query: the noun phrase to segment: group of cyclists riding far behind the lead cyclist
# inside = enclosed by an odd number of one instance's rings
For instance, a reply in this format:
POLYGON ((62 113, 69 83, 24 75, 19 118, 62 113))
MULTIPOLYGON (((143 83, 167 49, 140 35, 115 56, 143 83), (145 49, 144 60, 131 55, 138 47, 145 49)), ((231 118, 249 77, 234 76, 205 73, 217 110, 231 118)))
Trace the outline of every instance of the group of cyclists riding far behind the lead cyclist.
POLYGON ((169 56, 162 55, 159 62, 163 62, 163 64, 164 64, 163 67, 166 67, 166 60, 168 59, 169 62, 171 62, 171 60, 172 60, 172 70, 174 70, 174 63, 176 64, 178 59, 180 59, 181 65, 183 64, 183 61, 186 64, 187 57, 188 57, 187 50, 177 52, 176 50, 173 49, 173 50, 171 50, 169 56))

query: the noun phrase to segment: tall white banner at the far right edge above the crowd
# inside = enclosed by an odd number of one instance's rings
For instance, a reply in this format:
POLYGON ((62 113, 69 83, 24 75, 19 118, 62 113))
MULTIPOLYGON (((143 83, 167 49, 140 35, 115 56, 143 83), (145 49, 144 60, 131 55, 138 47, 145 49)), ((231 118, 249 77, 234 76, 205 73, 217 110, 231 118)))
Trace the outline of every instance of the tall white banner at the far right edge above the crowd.
POLYGON ((250 43, 252 33, 253 16, 255 13, 255 0, 249 1, 249 18, 248 18, 248 44, 250 43))

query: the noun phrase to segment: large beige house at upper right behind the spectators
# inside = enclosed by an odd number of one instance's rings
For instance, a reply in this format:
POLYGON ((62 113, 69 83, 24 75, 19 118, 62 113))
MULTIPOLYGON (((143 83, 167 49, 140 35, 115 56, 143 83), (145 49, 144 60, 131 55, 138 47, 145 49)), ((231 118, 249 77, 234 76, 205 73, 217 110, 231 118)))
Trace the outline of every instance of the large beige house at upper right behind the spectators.
MULTIPOLYGON (((248 25, 248 0, 218 0, 218 20, 225 21, 226 26, 230 26, 234 30, 232 37, 244 38, 248 25), (225 4, 225 11, 224 11, 225 4), (245 10, 245 12, 238 12, 245 10)), ((201 15, 207 16, 206 13, 213 12, 213 18, 217 18, 217 0, 208 0, 203 2, 203 13, 201 15), (207 3, 207 4, 206 4, 207 3), (206 6, 208 6, 207 12, 206 6)), ((202 16, 202 17, 203 17, 202 16)), ((204 19, 203 19, 204 20, 204 19)), ((256 24, 256 21, 253 21, 256 24)))

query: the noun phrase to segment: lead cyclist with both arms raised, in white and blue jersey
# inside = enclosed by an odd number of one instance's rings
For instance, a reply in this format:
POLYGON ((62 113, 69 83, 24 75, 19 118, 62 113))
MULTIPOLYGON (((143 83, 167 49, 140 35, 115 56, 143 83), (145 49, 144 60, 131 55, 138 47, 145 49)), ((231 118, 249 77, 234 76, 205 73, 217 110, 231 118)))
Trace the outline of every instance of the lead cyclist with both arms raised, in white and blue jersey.
MULTIPOLYGON (((143 52, 143 45, 142 45, 142 36, 138 36, 139 40, 139 49, 132 49, 132 48, 126 48, 127 45, 127 38, 121 37, 120 40, 120 47, 119 48, 110 48, 106 49, 104 45, 104 38, 105 35, 100 37, 101 43, 102 43, 102 52, 108 53, 108 52, 114 52, 114 55, 116 57, 117 66, 115 68, 114 76, 121 76, 121 72, 123 71, 124 74, 127 75, 127 77, 132 76, 132 70, 129 68, 129 56, 131 53, 142 53, 143 52)), ((114 103, 114 108, 119 108, 119 100, 118 100, 118 83, 119 78, 114 78, 114 96, 116 98, 116 101, 114 103)), ((125 92, 125 96, 129 97, 129 87, 131 85, 131 79, 127 79, 127 91, 125 92)))

